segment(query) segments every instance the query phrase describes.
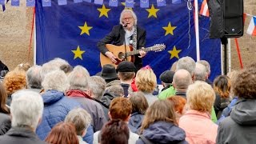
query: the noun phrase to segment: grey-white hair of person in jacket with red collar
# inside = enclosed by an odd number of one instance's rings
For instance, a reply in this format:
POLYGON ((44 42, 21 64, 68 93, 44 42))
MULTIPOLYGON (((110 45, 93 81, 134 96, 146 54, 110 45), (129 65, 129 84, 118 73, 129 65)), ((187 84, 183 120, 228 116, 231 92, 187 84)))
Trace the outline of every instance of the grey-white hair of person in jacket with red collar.
POLYGON ((87 90, 89 85, 90 74, 86 68, 75 66, 74 70, 68 75, 70 90, 87 90))

